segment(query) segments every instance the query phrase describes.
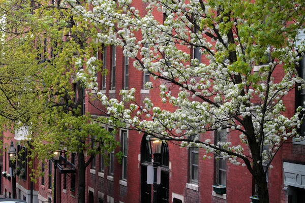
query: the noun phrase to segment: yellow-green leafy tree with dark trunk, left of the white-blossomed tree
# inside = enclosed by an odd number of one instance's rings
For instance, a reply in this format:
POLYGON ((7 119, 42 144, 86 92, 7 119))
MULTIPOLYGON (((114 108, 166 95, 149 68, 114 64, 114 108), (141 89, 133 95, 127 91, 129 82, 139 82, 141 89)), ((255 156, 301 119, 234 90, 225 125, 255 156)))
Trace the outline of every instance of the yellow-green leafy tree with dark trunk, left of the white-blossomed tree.
MULTIPOLYGON (((87 2, 77 2, 77 6, 89 10, 87 2)), ((93 122, 84 106, 86 91, 97 86, 94 78, 101 71, 102 62, 96 58, 98 49, 101 50, 97 35, 100 30, 107 31, 107 26, 92 26, 88 16, 77 16, 72 8, 59 0, 1 2, 5 16, 2 43, 3 49, 7 48, 1 56, 5 61, 1 73, 9 79, 14 76, 14 83, 9 81, 8 89, 0 90, 0 99, 13 100, 11 106, 1 104, 5 110, 3 117, 15 121, 15 129, 26 128, 29 142, 24 145, 30 144, 32 160, 44 162, 58 149, 77 154, 77 196, 78 202, 85 202, 87 166, 98 154, 107 160, 107 152, 119 143, 99 123, 93 122), (93 82, 86 83, 81 76, 93 82), (13 109, 16 104, 20 110, 13 109), (24 114, 25 119, 15 119, 15 112, 18 116, 24 114)), ((34 168, 33 162, 29 164, 35 181, 37 175, 42 175, 40 166, 34 168)))

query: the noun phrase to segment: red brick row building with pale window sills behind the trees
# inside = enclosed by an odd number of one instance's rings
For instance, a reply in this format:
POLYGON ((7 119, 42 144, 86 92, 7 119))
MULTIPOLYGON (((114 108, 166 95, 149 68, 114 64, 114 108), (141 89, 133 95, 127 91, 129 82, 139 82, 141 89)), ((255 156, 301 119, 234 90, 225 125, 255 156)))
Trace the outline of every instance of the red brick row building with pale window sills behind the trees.
MULTIPOLYGON (((145 3, 139 4, 142 5, 142 12, 144 12, 145 3)), ((162 14, 158 17, 162 21, 162 14)), ((194 50, 187 47, 181 47, 181 49, 196 57, 194 50)), ((171 108, 162 104, 157 89, 144 88, 144 84, 153 79, 136 70, 132 65, 133 59, 124 57, 121 47, 108 46, 103 51, 103 54, 99 54, 99 59, 106 61, 104 68, 108 70, 109 74, 104 78, 98 77, 100 92, 109 98, 119 98, 120 89, 135 88, 138 104, 143 104, 143 100, 149 97, 156 106, 171 108)), ((202 62, 206 62, 204 59, 204 57, 200 58, 202 62)), ((300 64, 300 69, 305 70, 305 58, 300 64)), ((277 74, 279 78, 283 76, 284 72, 277 74)), ((162 83, 162 81, 156 83, 162 83)), ((171 91, 175 94, 178 89, 173 88, 171 91)), ((286 116, 290 117, 294 114, 299 99, 297 91, 290 93, 289 97, 285 97, 284 101, 288 107, 286 116)), ((93 117, 101 116, 101 112, 90 105, 88 99, 85 101, 87 112, 90 112, 93 117)), ((98 101, 94 102, 98 103, 98 101)), ((113 130, 111 126, 105 125, 105 128, 109 131, 113 130)), ((151 158, 147 152, 145 137, 133 130, 118 129, 118 132, 115 138, 122 147, 117 148, 115 152, 120 150, 124 152, 123 164, 119 164, 116 159, 112 158, 113 153, 110 153, 109 166, 104 163, 101 155, 94 159, 86 171, 86 202, 151 202, 153 186, 146 183, 147 166, 150 165, 151 158)), ((233 144, 240 142, 237 134, 230 134, 230 131, 223 133, 228 134, 226 137, 228 142, 233 144)), ((18 144, 19 140, 23 138, 17 135, 17 132, 15 135, 4 132, 4 137, 12 138, 18 152, 22 148, 22 145, 18 144)), ((209 136, 216 142, 219 134, 210 133, 209 136)), ((4 151, 8 151, 9 144, 10 140, 4 139, 4 151)), ((223 160, 217 161, 214 158, 203 160, 203 155, 205 155, 203 149, 181 149, 172 143, 163 145, 160 157, 162 166, 161 184, 158 185, 157 192, 158 202, 251 202, 249 197, 255 194, 255 184, 247 168, 235 166, 223 160), (226 193, 215 193, 212 189, 212 185, 215 184, 226 185, 226 193)), ((68 159, 72 166, 77 165, 75 157, 75 154, 72 153, 68 159)), ((9 172, 8 162, 7 153, 4 153, 3 171, 7 173, 9 172)), ((24 177, 17 178, 17 198, 30 202, 32 190, 33 202, 51 202, 56 182, 57 202, 77 202, 77 170, 64 174, 57 169, 57 179, 54 181, 54 163, 49 161, 48 165, 43 167, 45 176, 39 178, 31 188, 26 159, 25 164, 19 164, 25 168, 26 174, 24 177)), ((38 164, 40 163, 35 161, 35 165, 38 164)), ((290 140, 283 145, 272 165, 274 168, 268 171, 270 202, 303 202, 305 199, 305 143, 292 143, 290 140)), ((7 197, 12 196, 12 179, 2 177, 2 180, 4 183, 2 193, 7 197)))

